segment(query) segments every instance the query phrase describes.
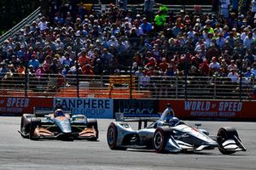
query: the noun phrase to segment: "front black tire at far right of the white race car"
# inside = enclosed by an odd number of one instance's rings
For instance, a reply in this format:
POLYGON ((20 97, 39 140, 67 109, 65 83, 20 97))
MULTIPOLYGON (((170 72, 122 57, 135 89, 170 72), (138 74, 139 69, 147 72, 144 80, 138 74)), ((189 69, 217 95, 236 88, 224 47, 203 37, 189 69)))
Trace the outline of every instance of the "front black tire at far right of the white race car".
MULTIPOLYGON (((224 141, 227 140, 227 139, 235 139, 234 136, 236 136, 236 138, 239 139, 238 133, 237 133, 237 131, 234 127, 221 127, 221 128, 219 128, 217 136, 218 136, 218 138, 217 138, 218 150, 222 154, 230 155, 230 154, 233 154, 233 153, 236 152, 234 150, 225 150, 223 145, 222 145, 224 143, 224 141)), ((236 139, 235 139, 235 141, 236 141, 236 139)))

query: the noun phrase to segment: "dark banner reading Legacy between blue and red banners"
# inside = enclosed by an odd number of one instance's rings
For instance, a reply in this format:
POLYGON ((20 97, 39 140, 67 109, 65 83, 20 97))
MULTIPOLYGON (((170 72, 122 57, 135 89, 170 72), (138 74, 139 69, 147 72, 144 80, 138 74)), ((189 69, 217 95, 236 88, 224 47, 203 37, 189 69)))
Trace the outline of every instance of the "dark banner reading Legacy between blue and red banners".
POLYGON ((113 112, 124 113, 124 116, 160 116, 155 99, 114 99, 113 104, 113 112))

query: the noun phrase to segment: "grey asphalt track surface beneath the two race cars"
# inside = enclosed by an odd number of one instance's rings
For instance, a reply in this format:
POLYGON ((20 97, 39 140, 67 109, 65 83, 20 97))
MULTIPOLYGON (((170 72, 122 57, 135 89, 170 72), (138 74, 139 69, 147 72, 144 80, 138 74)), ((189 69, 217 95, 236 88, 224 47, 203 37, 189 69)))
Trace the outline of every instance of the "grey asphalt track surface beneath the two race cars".
MULTIPOLYGON (((201 122, 202 127, 216 134, 219 127, 236 127, 247 152, 231 156, 218 149, 191 154, 157 154, 154 150, 110 150, 106 139, 109 123, 98 120, 100 138, 97 142, 76 140, 32 141, 22 139, 17 130, 20 117, 0 116, 0 169, 256 169, 255 122, 201 122)), ((186 121, 189 125, 195 122, 186 121)))

